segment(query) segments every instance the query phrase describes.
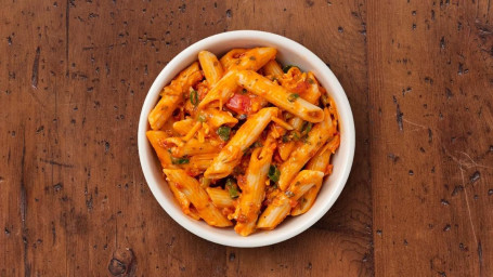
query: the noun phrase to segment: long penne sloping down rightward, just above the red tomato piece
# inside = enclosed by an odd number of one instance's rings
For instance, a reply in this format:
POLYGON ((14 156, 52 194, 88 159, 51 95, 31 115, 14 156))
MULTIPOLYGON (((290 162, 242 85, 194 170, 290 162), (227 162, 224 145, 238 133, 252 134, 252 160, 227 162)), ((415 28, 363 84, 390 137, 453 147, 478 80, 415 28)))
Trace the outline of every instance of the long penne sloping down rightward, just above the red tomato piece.
POLYGON ((324 113, 320 107, 300 98, 296 93, 289 93, 283 87, 255 71, 239 71, 237 81, 248 91, 307 121, 320 122, 324 119, 324 113))

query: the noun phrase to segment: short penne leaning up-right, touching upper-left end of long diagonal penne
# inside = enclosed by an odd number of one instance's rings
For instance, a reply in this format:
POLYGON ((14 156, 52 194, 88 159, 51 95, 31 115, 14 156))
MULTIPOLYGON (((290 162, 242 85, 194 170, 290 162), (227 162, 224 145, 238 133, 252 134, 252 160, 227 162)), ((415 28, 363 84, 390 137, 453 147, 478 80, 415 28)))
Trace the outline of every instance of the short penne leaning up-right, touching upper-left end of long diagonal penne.
POLYGON ((204 109, 206 106, 210 106, 212 103, 217 104, 219 108, 233 96, 234 92, 238 88, 236 83, 237 71, 232 70, 222 77, 216 85, 207 93, 207 95, 198 104, 199 109, 204 109))

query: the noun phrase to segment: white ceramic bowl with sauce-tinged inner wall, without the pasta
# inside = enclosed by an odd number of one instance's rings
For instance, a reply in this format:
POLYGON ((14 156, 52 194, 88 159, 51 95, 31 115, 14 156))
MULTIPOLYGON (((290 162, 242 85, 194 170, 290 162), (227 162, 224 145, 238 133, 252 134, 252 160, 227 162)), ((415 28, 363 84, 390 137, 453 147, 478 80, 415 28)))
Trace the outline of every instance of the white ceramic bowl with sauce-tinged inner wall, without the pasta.
POLYGON ((181 226, 193 234, 231 247, 261 247, 289 239, 309 228, 319 221, 339 197, 346 185, 354 157, 354 121, 348 98, 337 78, 322 60, 303 45, 285 37, 257 30, 237 30, 215 35, 203 39, 178 54, 160 71, 151 87, 142 107, 139 120, 139 157, 145 180, 165 211, 181 226), (333 174, 325 181, 313 207, 304 214, 286 219, 273 230, 257 232, 248 237, 237 235, 233 228, 217 228, 204 221, 195 221, 185 215, 173 199, 163 177, 160 164, 154 149, 147 142, 145 132, 150 129, 147 115, 156 105, 159 92, 171 79, 197 61, 202 50, 208 50, 220 56, 233 48, 274 47, 277 49, 277 61, 283 65, 298 65, 303 70, 314 72, 317 80, 335 101, 340 120, 340 147, 333 157, 333 174))

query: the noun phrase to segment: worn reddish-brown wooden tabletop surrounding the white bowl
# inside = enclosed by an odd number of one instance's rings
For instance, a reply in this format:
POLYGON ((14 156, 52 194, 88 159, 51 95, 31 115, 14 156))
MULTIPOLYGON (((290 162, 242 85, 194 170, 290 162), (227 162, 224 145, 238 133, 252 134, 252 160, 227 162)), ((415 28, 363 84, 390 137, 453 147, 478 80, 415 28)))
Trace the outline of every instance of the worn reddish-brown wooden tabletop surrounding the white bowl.
POLYGON ((0 276, 492 276, 490 14, 480 0, 3 1, 0 276), (234 29, 311 49, 356 124, 336 205, 258 249, 180 227, 137 149, 161 68, 234 29))

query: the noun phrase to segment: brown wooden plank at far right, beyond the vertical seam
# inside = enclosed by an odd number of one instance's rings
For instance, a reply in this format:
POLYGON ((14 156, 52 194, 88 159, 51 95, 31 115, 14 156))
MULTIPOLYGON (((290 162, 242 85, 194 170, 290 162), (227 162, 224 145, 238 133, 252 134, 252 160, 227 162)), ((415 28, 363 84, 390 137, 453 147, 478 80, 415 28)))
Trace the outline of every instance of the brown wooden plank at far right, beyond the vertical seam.
POLYGON ((490 1, 368 3, 378 276, 491 275, 490 13, 490 1))

